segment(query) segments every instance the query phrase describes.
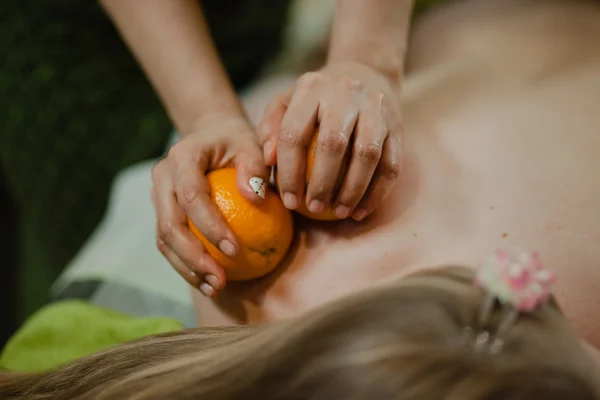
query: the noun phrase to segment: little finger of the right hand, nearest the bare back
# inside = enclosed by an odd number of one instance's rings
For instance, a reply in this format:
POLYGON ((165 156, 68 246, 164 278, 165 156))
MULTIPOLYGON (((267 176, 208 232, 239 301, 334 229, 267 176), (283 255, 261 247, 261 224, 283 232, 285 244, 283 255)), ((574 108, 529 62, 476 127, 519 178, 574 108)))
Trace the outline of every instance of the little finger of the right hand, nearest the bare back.
POLYGON ((375 170, 367 193, 352 213, 356 221, 363 220, 373 213, 390 193, 400 173, 400 140, 396 136, 388 136, 383 144, 382 160, 375 170))

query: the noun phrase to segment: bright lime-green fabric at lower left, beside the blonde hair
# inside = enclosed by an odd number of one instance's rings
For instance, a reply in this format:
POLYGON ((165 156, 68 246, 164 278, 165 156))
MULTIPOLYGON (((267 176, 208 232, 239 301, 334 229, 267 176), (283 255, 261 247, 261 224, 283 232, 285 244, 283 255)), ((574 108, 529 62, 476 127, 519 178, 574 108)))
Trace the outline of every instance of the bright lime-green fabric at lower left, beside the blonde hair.
POLYGON ((177 331, 170 318, 136 318, 83 301, 50 304, 9 340, 0 368, 39 372, 144 336, 177 331))

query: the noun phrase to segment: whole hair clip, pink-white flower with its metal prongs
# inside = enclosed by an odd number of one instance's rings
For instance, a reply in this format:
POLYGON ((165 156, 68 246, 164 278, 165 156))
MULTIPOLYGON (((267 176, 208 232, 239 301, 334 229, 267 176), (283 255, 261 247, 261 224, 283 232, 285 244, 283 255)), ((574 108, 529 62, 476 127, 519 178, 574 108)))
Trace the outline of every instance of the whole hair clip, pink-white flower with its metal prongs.
MULTIPOLYGON (((555 281, 556 275, 544 268, 537 253, 515 249, 492 254, 475 277, 475 284, 485 292, 478 316, 479 333, 473 344, 475 351, 500 352, 506 334, 519 315, 543 305, 550 297, 550 288, 555 281), (485 325, 496 301, 502 304, 502 311, 497 329, 492 334, 485 325)), ((472 328, 467 331, 473 333, 472 328)))

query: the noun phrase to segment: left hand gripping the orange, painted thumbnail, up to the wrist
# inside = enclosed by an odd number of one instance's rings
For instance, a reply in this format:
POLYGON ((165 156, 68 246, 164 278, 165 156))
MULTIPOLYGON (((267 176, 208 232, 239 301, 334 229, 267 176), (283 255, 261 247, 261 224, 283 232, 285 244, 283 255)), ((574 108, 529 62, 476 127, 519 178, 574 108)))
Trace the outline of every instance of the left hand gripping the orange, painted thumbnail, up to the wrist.
POLYGON ((236 238, 211 200, 205 178, 206 172, 227 166, 237 169, 240 193, 260 204, 262 199, 249 181, 260 178, 268 182, 269 169, 244 116, 201 120, 152 170, 158 249, 188 283, 209 297, 225 286, 225 271, 192 234, 186 217, 223 253, 237 253, 236 238))

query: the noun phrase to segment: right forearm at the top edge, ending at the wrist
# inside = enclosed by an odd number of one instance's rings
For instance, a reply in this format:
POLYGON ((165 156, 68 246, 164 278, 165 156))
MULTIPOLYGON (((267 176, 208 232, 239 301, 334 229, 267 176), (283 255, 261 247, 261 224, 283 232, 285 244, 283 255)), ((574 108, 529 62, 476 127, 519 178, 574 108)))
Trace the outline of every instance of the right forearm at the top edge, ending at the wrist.
POLYGON ((414 0, 337 0, 328 60, 357 61, 400 82, 414 0))

